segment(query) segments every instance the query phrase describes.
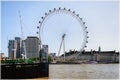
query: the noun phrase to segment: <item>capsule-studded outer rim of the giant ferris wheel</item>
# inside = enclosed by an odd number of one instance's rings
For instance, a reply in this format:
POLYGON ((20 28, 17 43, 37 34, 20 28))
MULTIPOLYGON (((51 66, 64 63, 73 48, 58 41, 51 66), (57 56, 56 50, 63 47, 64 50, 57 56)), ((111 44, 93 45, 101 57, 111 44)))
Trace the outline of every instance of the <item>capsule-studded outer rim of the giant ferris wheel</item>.
MULTIPOLYGON (((79 51, 82 52, 84 50, 84 48, 86 48, 86 44, 88 43, 87 39, 88 39, 88 31, 87 31, 87 26, 85 25, 85 22, 83 22, 82 18, 79 17, 79 14, 76 14, 75 11, 71 11, 71 9, 66 9, 66 8, 54 8, 53 10, 49 10, 48 13, 45 13, 45 16, 41 17, 41 21, 39 21, 40 23, 40 29, 39 29, 39 33, 41 31, 41 28, 43 26, 43 24, 45 23, 45 20, 52 14, 56 14, 56 13, 69 13, 70 15, 72 15, 74 18, 76 18, 78 20, 78 22, 80 23, 82 29, 83 29, 83 34, 84 34, 84 41, 82 42, 82 45, 80 46, 79 51)), ((43 26, 44 27, 44 26, 43 26)), ((41 40, 41 35, 39 35, 39 38, 41 40)), ((42 42, 41 42, 42 43, 42 42)))

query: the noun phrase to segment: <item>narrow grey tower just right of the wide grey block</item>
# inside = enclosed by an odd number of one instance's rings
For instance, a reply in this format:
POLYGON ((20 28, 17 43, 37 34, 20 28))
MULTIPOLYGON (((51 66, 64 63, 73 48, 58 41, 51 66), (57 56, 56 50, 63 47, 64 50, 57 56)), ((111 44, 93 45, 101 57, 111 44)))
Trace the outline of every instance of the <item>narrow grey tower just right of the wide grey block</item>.
POLYGON ((42 62, 48 62, 48 45, 42 45, 42 62))

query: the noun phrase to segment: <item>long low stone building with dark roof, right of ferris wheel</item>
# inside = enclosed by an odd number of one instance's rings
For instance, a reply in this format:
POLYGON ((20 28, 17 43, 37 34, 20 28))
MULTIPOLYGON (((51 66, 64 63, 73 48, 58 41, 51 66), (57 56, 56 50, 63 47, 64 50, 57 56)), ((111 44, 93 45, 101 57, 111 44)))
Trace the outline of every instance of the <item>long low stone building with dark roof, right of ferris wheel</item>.
MULTIPOLYGON (((67 52, 66 56, 74 54, 73 51, 67 52)), ((83 51, 81 55, 78 56, 80 61, 97 61, 99 63, 118 63, 119 62, 119 52, 116 51, 83 51)))

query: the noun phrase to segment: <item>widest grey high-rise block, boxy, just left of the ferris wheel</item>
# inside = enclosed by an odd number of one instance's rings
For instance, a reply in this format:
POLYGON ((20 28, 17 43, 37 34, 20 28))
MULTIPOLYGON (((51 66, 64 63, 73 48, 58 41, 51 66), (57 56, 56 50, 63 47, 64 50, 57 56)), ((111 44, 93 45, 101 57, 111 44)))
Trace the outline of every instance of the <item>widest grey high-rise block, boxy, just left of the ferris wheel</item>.
POLYGON ((25 40, 26 56, 27 58, 39 57, 39 38, 35 36, 29 36, 25 40))

